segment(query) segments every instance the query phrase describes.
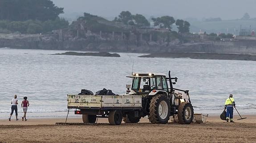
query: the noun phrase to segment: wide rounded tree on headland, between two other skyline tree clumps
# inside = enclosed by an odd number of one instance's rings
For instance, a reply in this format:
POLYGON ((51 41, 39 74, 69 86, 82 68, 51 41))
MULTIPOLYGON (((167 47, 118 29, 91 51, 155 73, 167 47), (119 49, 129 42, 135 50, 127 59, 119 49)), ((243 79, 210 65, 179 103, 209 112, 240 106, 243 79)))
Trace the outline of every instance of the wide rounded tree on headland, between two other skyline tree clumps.
POLYGON ((158 18, 152 18, 154 21, 154 26, 159 26, 160 28, 169 28, 175 23, 175 19, 172 16, 162 16, 158 18))

